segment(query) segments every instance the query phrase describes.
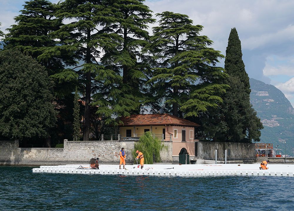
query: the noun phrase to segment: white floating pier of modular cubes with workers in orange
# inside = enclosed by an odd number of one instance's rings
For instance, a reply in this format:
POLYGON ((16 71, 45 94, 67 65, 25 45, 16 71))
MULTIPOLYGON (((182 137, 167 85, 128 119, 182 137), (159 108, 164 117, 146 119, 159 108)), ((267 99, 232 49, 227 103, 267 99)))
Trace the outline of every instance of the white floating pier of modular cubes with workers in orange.
POLYGON ((294 177, 294 165, 268 164, 268 170, 260 170, 260 164, 146 164, 126 165, 119 169, 118 165, 99 165, 99 169, 90 169, 89 164, 73 164, 61 166, 40 166, 33 172, 41 173, 78 173, 78 174, 121 174, 147 176, 289 176, 294 177))

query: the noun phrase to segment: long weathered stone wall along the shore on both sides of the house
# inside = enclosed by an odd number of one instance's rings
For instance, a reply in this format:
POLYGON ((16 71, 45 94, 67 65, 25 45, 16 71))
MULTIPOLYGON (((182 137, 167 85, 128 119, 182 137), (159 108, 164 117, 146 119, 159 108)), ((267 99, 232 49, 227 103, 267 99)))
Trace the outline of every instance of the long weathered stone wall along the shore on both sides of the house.
MULTIPOLYGON (((118 164, 119 150, 126 151, 126 164, 133 164, 131 150, 135 141, 64 141, 64 148, 19 148, 18 141, 0 141, 0 165, 62 165, 88 164, 91 158, 98 157, 101 164, 118 164)), ((164 142, 167 149, 161 152, 163 163, 178 163, 178 156, 173 156, 172 142, 164 142)), ((255 162, 254 144, 235 142, 198 142, 198 156, 190 156, 194 161, 214 160, 217 149, 218 161, 224 161, 225 149, 227 160, 255 162)))

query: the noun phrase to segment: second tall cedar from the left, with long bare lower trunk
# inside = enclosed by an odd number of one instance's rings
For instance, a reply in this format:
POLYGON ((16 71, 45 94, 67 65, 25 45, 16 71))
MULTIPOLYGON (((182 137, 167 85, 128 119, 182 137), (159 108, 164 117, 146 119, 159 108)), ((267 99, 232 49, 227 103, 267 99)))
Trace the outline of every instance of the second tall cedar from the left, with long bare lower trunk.
MULTIPOLYGON (((105 0, 65 0, 60 4, 56 16, 71 20, 52 33, 61 42, 58 48, 74 52, 74 59, 79 61, 73 68, 64 69, 54 77, 60 81, 78 81, 81 93, 84 93, 83 140, 90 135, 90 103, 93 93, 106 80, 115 81, 117 75, 107 69, 99 60, 102 51, 115 49, 117 34, 112 33, 109 25, 115 22, 115 8, 112 1, 105 0), (77 69, 78 68, 78 69, 77 69)), ((56 52, 55 52, 56 53, 56 52)))

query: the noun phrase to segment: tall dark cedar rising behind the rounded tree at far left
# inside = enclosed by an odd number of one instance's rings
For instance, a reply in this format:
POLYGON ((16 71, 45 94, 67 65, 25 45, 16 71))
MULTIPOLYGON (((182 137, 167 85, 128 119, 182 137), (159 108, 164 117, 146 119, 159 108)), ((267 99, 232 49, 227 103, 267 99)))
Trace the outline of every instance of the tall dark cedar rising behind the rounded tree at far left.
MULTIPOLYGON (((51 36, 63 25, 62 19, 55 17, 58 8, 58 5, 46 0, 26 1, 21 14, 14 18, 16 24, 8 29, 4 39, 6 49, 13 48, 31 55, 46 67, 49 76, 59 73, 66 65, 75 64, 70 57, 71 52, 63 49, 60 42, 51 36)), ((55 110, 58 112, 57 125, 50 131, 53 143, 72 136, 69 123, 73 121, 71 99, 74 84, 59 82, 54 80, 53 86, 55 110)))

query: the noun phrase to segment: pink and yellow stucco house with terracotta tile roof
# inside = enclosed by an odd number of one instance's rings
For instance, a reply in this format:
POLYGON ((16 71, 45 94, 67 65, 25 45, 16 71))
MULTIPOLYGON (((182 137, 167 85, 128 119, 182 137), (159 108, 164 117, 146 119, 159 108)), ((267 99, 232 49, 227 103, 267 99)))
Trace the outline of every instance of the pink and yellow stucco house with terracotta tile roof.
POLYGON ((199 125, 170 114, 139 114, 120 118, 119 131, 122 139, 138 139, 150 131, 162 141, 172 142, 173 156, 188 152, 197 156, 198 139, 194 137, 199 125))

